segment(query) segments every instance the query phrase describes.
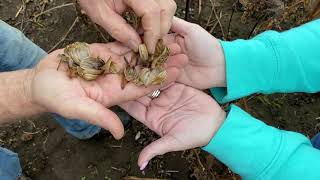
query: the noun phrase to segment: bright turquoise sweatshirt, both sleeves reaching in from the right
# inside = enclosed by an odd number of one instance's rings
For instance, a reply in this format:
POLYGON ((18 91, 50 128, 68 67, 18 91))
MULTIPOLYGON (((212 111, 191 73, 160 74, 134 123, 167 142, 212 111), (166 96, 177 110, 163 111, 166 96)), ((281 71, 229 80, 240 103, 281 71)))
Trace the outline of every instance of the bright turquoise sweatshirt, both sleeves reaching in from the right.
MULTIPOLYGON (((320 20, 222 46, 227 88, 212 89, 220 102, 252 93, 320 91, 320 20)), ((308 138, 268 126, 234 105, 204 150, 243 179, 320 179, 320 151, 308 138)))

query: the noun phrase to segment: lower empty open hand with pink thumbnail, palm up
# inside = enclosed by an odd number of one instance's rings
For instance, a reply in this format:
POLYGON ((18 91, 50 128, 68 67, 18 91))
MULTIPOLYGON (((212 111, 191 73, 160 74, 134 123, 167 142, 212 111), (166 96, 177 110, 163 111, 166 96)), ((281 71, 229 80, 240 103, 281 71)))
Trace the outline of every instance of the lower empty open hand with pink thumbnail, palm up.
POLYGON ((121 107, 161 136, 142 150, 141 170, 157 155, 207 145, 226 117, 210 96, 182 84, 173 84, 156 99, 142 97, 121 107))

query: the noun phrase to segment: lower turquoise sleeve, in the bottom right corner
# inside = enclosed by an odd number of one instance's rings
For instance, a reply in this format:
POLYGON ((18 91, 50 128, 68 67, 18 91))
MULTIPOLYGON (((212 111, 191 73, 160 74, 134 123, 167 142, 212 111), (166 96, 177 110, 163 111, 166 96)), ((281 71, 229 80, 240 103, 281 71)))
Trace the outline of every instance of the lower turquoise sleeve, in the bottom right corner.
POLYGON ((268 126, 234 105, 204 150, 244 180, 320 179, 320 151, 308 138, 268 126))

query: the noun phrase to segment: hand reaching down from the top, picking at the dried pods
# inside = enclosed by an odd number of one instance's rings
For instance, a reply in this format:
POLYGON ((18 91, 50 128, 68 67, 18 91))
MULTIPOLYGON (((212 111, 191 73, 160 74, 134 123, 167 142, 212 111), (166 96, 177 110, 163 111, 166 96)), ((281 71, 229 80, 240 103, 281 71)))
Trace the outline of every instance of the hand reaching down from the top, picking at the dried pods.
POLYGON ((144 42, 152 54, 158 39, 169 32, 177 9, 174 0, 80 0, 80 5, 112 37, 137 51, 140 36, 120 15, 129 8, 133 9, 142 18, 144 42))

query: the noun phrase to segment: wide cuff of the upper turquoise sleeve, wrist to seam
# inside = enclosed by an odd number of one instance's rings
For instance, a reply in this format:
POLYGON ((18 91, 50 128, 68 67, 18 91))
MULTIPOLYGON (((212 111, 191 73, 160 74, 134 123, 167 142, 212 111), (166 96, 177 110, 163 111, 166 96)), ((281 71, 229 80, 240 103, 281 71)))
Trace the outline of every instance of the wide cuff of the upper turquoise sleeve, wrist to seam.
POLYGON ((226 59, 227 88, 211 89, 219 102, 270 92, 278 73, 278 57, 270 40, 275 35, 277 32, 269 31, 251 40, 220 41, 226 59))

